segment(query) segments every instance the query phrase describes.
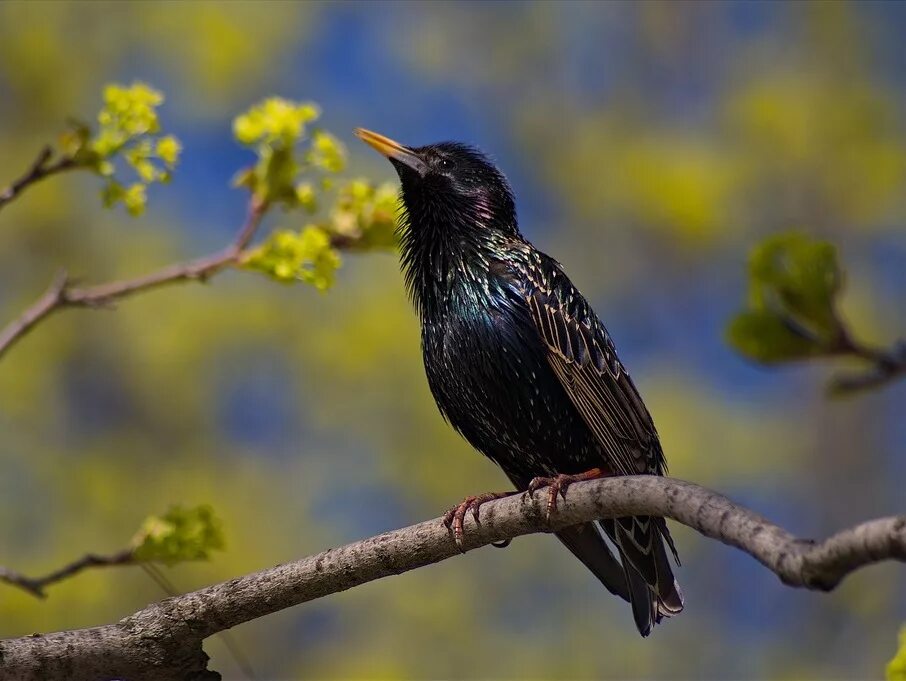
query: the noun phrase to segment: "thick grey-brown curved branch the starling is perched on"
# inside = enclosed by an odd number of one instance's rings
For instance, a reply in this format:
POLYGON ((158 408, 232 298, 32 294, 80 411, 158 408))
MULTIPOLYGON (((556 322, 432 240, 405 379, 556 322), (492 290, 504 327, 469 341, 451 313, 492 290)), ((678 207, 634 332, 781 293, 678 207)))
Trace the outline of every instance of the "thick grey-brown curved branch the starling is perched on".
MULTIPOLYGON (((467 518, 464 550, 598 518, 673 518, 735 546, 784 584, 827 591, 846 575, 883 560, 906 562, 906 516, 881 518, 823 542, 797 539, 758 514, 698 485, 656 476, 576 483, 548 523, 547 491, 515 495, 467 518)), ((116 624, 0 641, 0 679, 217 679, 202 641, 300 603, 458 555, 437 518, 154 603, 116 624)))

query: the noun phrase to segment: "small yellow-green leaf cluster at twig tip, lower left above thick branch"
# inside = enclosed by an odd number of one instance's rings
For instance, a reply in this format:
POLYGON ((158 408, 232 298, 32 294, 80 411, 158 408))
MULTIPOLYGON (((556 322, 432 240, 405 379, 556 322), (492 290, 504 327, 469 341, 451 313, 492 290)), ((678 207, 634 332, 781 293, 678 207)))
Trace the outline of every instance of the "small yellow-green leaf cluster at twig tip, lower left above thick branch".
POLYGON ((171 506, 162 516, 150 516, 132 539, 138 560, 167 565, 187 560, 208 560, 211 551, 224 547, 220 520, 210 506, 171 506))

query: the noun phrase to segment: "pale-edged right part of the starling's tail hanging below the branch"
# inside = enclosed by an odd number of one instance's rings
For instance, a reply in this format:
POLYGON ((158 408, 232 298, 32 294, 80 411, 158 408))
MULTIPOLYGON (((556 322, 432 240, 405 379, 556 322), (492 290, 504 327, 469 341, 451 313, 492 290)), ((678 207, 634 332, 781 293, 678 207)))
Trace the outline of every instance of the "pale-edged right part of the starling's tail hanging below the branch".
POLYGON ((663 518, 635 516, 603 520, 601 527, 619 549, 632 615, 639 633, 647 636, 661 618, 683 609, 683 594, 664 546, 666 542, 679 565, 667 524, 663 518))

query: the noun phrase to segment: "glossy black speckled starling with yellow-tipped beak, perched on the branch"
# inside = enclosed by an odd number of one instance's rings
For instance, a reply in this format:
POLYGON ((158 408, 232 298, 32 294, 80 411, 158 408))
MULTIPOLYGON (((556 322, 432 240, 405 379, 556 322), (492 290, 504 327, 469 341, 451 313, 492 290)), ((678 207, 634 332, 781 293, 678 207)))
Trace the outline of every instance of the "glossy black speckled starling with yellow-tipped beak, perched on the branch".
MULTIPOLYGON (((665 475, 654 422, 607 329, 560 263, 522 235, 513 191, 494 163, 458 142, 413 147, 363 128, 355 134, 400 179, 400 266, 446 421, 517 491, 548 486, 548 514, 577 480, 665 475)), ((456 539, 468 510, 477 519, 482 503, 513 493, 467 497, 447 515, 456 539)), ((663 518, 555 534, 631 604, 642 636, 682 611, 667 550, 677 565, 679 556, 663 518)))

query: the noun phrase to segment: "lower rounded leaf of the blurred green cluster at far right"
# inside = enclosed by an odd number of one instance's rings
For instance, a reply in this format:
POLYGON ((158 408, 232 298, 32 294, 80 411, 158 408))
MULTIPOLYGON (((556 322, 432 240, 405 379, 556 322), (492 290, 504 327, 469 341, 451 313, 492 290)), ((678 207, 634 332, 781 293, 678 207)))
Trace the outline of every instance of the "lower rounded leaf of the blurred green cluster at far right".
POLYGON ((746 357, 768 364, 805 359, 823 351, 820 343, 770 310, 736 315, 727 327, 727 341, 746 357))

